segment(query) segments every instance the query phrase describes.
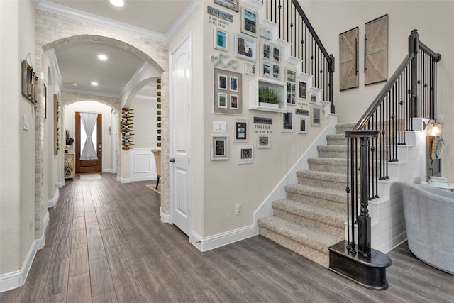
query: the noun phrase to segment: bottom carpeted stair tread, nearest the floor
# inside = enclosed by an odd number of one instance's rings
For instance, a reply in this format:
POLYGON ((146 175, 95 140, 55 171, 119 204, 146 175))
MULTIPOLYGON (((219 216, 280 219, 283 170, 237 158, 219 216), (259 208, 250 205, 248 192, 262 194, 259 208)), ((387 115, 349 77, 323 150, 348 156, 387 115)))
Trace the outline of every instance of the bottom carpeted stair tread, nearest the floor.
POLYGON ((270 231, 279 233, 286 238, 301 243, 310 248, 319 250, 321 253, 328 254, 328 247, 338 243, 341 239, 324 234, 316 228, 309 228, 293 224, 292 222, 281 219, 277 216, 268 216, 258 221, 258 225, 270 231))

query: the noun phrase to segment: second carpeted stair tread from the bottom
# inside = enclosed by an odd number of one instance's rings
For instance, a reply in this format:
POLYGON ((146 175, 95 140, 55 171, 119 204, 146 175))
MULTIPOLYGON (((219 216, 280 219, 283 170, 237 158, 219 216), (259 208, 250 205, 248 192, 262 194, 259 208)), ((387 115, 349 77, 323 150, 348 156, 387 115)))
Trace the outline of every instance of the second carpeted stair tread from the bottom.
POLYGON ((345 212, 333 211, 315 205, 302 204, 289 199, 272 202, 272 208, 341 228, 347 220, 345 212))

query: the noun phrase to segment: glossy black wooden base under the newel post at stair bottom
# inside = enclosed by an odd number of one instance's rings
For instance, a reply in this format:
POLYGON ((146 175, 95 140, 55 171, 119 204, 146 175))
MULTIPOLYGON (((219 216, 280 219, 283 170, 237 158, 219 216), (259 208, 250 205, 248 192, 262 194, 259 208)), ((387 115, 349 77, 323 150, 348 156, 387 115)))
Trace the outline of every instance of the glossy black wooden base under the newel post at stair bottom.
POLYGON ((346 246, 347 241, 341 241, 328 248, 329 270, 371 290, 386 290, 386 268, 391 265, 389 256, 374 249, 369 257, 358 252, 352 255, 346 246))

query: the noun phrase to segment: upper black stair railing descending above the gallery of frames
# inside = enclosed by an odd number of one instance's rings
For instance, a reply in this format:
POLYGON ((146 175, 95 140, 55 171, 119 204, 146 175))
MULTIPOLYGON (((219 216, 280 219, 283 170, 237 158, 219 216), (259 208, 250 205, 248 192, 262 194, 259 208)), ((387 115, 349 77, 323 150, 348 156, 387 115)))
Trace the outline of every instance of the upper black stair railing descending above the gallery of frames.
POLYGON ((312 84, 321 89, 322 99, 333 101, 334 56, 328 55, 323 43, 298 0, 257 0, 265 4, 265 18, 279 26, 279 39, 292 44, 290 55, 302 60, 302 72, 312 75, 312 84))

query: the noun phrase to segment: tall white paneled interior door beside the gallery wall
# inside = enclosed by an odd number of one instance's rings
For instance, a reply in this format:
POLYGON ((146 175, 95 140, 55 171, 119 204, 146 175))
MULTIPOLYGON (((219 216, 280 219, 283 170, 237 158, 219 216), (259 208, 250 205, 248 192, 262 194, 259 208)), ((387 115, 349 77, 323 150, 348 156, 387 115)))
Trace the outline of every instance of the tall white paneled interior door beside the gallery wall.
POLYGON ((170 55, 170 211, 172 223, 190 236, 191 211, 191 35, 170 55))

